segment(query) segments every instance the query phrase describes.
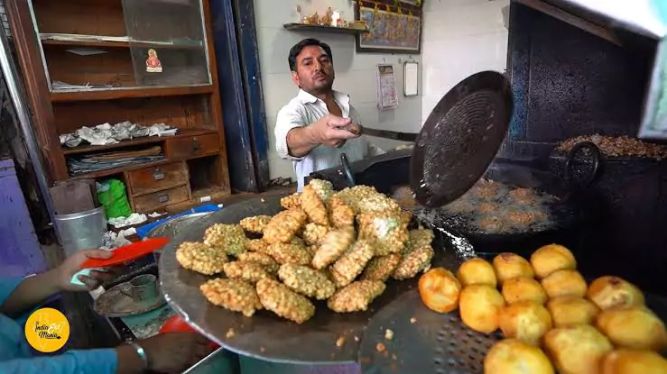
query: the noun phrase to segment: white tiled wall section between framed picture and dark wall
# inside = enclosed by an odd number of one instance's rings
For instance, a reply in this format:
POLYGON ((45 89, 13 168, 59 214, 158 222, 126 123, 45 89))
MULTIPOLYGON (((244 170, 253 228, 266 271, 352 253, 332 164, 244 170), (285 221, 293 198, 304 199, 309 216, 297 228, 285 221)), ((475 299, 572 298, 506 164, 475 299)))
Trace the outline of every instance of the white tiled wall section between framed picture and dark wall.
POLYGON ((422 119, 440 97, 469 75, 503 72, 507 29, 502 8, 509 0, 425 0, 422 39, 422 119))

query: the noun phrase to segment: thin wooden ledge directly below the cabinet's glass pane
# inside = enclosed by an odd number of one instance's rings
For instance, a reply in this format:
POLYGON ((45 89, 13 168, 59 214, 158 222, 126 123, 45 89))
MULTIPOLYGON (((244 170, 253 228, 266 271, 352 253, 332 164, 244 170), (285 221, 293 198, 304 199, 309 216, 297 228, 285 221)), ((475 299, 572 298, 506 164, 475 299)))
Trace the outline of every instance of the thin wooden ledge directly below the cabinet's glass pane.
POLYGON ((123 88, 91 88, 84 91, 60 90, 51 92, 51 101, 93 101, 114 100, 122 98, 141 98, 155 96, 183 96, 212 94, 214 87, 185 86, 185 87, 123 87, 123 88))

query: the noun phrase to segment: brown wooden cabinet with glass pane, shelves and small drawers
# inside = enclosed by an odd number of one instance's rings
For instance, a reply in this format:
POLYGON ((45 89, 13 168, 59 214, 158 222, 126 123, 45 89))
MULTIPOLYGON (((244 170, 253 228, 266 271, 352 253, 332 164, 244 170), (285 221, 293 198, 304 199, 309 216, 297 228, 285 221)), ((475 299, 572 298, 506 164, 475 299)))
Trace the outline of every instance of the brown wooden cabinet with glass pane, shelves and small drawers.
POLYGON ((5 10, 52 181, 120 178, 138 212, 231 193, 208 0, 5 0, 5 10), (60 144, 125 122, 177 131, 60 144), (119 155, 150 157, 89 167, 119 155))

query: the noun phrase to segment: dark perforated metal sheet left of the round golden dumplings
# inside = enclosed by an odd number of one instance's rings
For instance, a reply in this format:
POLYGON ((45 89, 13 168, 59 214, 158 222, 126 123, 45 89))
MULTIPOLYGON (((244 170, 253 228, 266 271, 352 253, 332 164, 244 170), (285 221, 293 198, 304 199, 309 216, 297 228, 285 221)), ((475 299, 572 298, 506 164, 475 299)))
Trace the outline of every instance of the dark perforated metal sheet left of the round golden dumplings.
POLYGON ((459 311, 433 313, 416 289, 376 313, 366 327, 359 362, 366 374, 478 374, 484 357, 501 339, 466 327, 459 311), (387 329, 394 336, 386 339, 387 329), (383 346, 379 347, 378 343, 383 346), (384 348, 384 351, 383 351, 384 348))

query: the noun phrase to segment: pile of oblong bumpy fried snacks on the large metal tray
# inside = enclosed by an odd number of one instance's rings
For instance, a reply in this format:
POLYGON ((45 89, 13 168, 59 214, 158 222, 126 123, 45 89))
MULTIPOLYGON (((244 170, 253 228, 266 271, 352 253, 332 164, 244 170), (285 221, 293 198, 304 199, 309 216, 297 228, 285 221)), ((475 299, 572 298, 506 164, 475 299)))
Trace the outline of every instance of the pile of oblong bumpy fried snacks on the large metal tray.
POLYGON ((313 299, 337 313, 363 311, 389 278, 431 266, 433 233, 409 231, 411 214, 373 187, 335 192, 313 179, 281 205, 273 217, 214 224, 202 242, 181 244, 183 268, 226 276, 201 285, 209 302, 246 316, 264 308, 301 324, 315 314, 313 299))

